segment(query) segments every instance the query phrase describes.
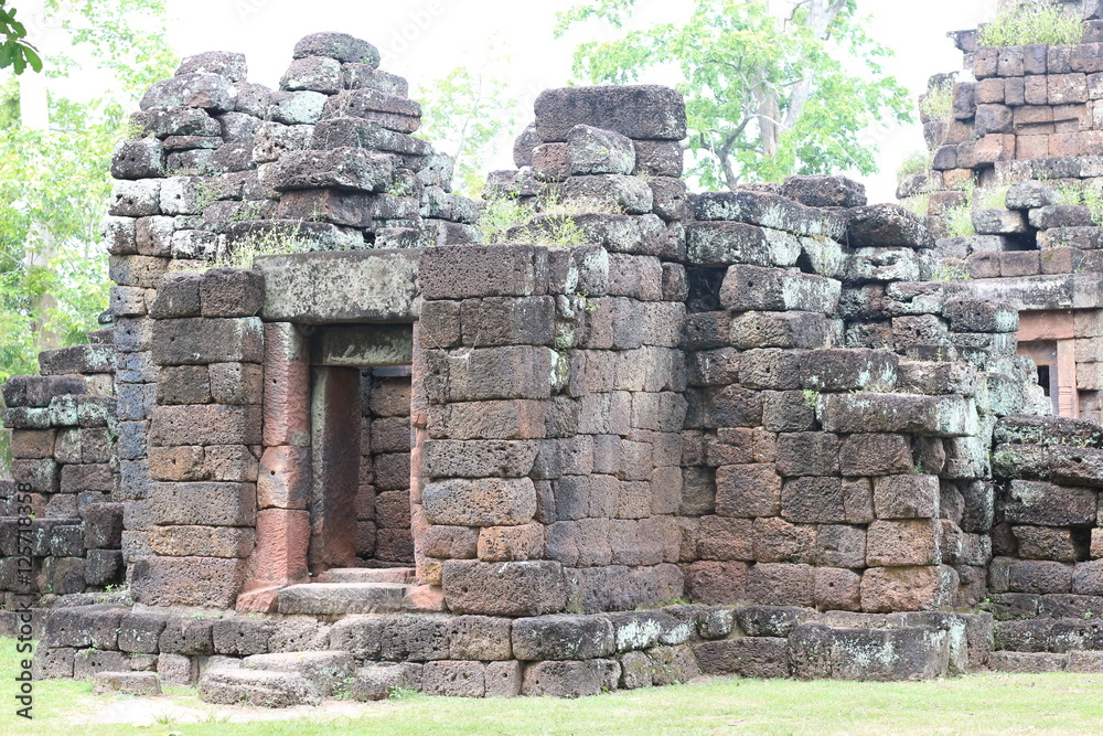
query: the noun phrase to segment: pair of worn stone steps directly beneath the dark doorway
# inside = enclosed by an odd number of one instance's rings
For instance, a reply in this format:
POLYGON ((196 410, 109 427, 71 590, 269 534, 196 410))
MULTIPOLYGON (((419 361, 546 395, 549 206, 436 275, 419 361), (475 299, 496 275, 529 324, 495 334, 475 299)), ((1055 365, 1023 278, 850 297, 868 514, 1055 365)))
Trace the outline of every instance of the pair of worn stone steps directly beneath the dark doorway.
POLYGON ((445 601, 439 588, 416 584, 413 567, 347 567, 283 588, 277 608, 283 615, 306 616, 439 612, 445 601))

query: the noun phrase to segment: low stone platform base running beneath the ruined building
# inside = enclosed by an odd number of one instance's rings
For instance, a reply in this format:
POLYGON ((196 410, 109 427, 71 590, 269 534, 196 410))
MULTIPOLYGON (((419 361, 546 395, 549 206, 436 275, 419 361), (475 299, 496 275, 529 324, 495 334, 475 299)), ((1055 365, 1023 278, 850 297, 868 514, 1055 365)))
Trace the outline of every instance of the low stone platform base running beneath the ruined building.
POLYGON ((579 697, 700 674, 922 680, 984 669, 987 614, 820 614, 677 605, 533 618, 446 614, 307 616, 54 608, 39 679, 156 672, 213 703, 285 706, 324 697, 579 697), (208 617, 210 616, 210 617, 208 617))

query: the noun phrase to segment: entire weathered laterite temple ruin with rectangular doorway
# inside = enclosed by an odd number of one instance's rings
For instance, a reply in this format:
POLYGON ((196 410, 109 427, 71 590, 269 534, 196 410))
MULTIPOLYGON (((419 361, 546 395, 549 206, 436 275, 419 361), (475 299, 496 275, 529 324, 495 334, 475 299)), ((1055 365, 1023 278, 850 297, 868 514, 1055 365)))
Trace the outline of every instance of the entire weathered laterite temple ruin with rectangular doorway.
POLYGON ((690 194, 677 93, 553 89, 485 192, 528 221, 482 243, 371 44, 295 57, 149 90, 106 327, 4 387, 36 676, 289 705, 1103 668, 1103 428, 1034 344, 1090 375, 1100 275, 990 271, 1094 252, 1048 184, 967 241, 838 177, 690 194))

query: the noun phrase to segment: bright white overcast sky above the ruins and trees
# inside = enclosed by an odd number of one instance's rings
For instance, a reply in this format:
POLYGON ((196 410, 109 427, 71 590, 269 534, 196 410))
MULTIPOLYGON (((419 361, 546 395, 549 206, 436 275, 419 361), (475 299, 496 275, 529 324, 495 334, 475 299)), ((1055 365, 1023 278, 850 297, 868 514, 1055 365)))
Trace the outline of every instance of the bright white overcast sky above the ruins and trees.
MULTIPOLYGON (((574 0, 169 0, 170 42, 182 55, 232 50, 248 56, 250 79, 275 86, 295 42, 314 31, 343 31, 371 41, 382 68, 416 85, 461 63, 480 63, 496 44, 511 56, 516 88, 535 99, 563 86, 570 73, 571 43, 553 38, 557 11, 574 0)), ((649 17, 690 7, 688 0, 640 0, 649 17)), ((859 0, 872 18, 872 35, 896 51, 888 72, 914 94, 935 73, 961 68, 962 55, 946 32, 975 28, 990 18, 996 0, 859 0)), ((865 178, 872 201, 893 196, 895 172, 921 149, 919 126, 870 131, 879 141, 882 173, 865 178)), ((508 150, 496 166, 511 167, 508 150)))

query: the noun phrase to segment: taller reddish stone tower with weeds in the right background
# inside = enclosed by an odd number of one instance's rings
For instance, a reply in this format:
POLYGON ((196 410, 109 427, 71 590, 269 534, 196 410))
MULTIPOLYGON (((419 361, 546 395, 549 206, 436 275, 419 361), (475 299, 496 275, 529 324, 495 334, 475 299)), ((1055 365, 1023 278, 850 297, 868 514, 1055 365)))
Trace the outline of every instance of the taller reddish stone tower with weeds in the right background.
POLYGON ((951 34, 966 76, 931 78, 931 94, 952 89, 952 113, 924 116, 931 170, 906 177, 898 196, 924 207, 936 236, 959 235, 938 239, 938 278, 1024 313, 1020 352, 1041 367, 1054 413, 1099 420, 1091 345, 1103 263, 1099 207, 1084 205, 1103 182, 1103 20, 1097 3, 1067 7, 1085 18, 1073 46, 992 49, 978 45, 976 31, 951 34), (976 234, 960 236, 970 225, 976 234))

